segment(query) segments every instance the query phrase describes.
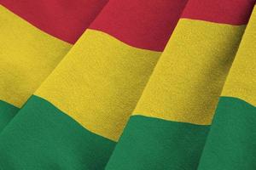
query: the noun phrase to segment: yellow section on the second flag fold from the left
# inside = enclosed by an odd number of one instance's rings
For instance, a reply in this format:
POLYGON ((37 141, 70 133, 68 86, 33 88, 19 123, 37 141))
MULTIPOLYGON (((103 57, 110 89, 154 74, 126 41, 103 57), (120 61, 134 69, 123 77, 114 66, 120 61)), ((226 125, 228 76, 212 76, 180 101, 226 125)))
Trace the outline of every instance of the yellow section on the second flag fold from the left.
POLYGON ((36 95, 91 132, 117 141, 159 56, 87 30, 36 95))

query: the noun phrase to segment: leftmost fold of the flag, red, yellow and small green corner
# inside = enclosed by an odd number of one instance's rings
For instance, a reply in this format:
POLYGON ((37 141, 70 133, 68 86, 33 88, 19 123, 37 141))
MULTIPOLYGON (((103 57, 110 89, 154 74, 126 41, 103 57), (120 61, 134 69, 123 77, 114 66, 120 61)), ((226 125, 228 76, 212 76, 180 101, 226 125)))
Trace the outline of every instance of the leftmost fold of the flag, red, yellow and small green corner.
POLYGON ((0 131, 54 70, 105 3, 1 1, 0 131))

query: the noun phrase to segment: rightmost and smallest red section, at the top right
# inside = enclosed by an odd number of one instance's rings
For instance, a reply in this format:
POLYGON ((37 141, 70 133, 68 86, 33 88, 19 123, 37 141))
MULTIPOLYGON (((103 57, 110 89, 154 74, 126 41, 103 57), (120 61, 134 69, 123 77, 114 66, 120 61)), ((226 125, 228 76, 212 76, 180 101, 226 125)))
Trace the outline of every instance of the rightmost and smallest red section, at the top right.
POLYGON ((247 24, 255 0, 189 0, 182 18, 230 25, 247 24))

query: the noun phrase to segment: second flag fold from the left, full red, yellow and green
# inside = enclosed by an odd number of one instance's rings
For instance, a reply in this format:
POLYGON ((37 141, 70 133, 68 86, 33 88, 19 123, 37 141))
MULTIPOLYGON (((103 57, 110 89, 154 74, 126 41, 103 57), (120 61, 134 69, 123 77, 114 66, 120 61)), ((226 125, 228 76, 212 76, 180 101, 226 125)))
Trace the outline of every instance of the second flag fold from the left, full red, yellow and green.
POLYGON ((103 169, 185 3, 109 1, 1 133, 1 166, 103 169))

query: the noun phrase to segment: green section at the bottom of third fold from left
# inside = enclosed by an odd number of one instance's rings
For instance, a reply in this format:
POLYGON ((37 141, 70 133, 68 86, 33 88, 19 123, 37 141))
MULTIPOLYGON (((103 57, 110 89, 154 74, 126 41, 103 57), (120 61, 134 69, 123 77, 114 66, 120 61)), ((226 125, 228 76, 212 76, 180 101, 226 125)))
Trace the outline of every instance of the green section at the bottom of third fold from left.
POLYGON ((209 126, 131 116, 107 170, 196 169, 209 126))

